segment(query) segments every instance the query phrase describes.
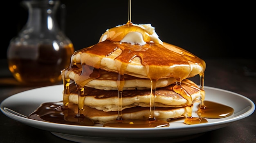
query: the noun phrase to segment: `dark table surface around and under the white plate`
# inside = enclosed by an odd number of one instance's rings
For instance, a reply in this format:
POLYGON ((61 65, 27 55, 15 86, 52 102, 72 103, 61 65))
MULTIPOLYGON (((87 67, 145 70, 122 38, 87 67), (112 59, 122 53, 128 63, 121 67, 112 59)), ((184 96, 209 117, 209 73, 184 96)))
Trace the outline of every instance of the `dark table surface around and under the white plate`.
MULTIPOLYGON (((204 86, 236 92, 256 103, 256 59, 204 60, 207 64, 204 86)), ((7 60, 1 59, 0 64, 2 66, 0 68, 0 102, 16 93, 40 87, 20 85, 9 72, 7 60)), ((195 83, 198 84, 198 81, 195 83)), ((51 132, 10 119, 2 112, 0 112, 0 127, 0 143, 72 143, 72 141, 61 139, 51 132)), ((188 143, 188 141, 256 143, 256 112, 249 117, 231 123, 227 127, 206 132, 183 142, 188 143)))

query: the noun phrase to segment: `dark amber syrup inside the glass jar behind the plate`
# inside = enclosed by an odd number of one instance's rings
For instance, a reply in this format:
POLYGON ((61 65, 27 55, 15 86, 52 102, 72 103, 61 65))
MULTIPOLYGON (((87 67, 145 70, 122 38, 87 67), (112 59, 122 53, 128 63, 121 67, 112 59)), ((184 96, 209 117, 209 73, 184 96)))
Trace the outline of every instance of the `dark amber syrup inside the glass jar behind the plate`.
POLYGON ((7 52, 9 70, 22 84, 54 84, 61 81, 61 70, 70 65, 73 53, 72 44, 63 47, 11 44, 7 52))

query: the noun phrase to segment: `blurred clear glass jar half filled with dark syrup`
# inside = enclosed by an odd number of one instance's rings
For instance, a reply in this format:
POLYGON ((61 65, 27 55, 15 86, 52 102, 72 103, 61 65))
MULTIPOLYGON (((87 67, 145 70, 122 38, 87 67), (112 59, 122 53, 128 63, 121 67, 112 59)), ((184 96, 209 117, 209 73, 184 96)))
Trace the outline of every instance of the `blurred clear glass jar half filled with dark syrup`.
POLYGON ((7 49, 9 70, 26 85, 50 85, 61 81, 61 70, 70 65, 72 42, 59 29, 59 0, 25 0, 25 26, 11 39, 7 49))

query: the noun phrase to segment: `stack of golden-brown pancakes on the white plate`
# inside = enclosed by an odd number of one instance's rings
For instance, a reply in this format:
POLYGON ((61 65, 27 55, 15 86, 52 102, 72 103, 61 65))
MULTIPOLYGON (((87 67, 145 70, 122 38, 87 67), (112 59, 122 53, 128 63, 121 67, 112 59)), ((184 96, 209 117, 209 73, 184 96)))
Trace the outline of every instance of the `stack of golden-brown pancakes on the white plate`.
MULTIPOLYGON (((125 39, 129 30, 121 37, 118 31, 127 27, 132 32, 138 29, 132 24, 115 27, 104 33, 105 38, 101 37, 99 43, 72 55, 70 66, 62 71, 63 104, 77 104, 85 117, 95 123, 106 123, 117 119, 121 91, 122 117, 146 119, 155 90, 156 118, 170 120, 186 116, 186 107, 201 96, 200 88, 188 78, 204 73, 205 62, 172 44, 146 41, 145 36, 143 45, 115 40, 125 39), (186 96, 173 90, 177 84, 186 96)), ((150 31, 144 32, 152 35, 150 31)))

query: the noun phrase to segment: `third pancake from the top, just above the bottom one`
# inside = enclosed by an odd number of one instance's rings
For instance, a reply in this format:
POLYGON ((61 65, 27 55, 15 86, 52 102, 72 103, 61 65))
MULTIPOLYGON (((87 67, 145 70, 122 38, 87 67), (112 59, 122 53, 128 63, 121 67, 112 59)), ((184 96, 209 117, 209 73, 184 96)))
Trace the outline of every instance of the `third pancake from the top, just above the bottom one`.
MULTIPOLYGON (((172 84, 164 88, 157 88, 155 91, 155 107, 185 107, 191 106, 191 103, 198 101, 200 90, 195 83, 189 79, 184 79, 182 88, 189 93, 192 102, 187 101, 184 97, 173 91, 172 84)), ((103 110, 105 112, 118 110, 118 90, 98 90, 86 87, 84 105, 103 110)), ((74 83, 70 84, 69 101, 78 104, 78 92, 74 83)), ((135 106, 149 107, 151 92, 148 90, 124 90, 122 97, 122 109, 135 106)))

